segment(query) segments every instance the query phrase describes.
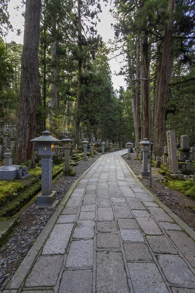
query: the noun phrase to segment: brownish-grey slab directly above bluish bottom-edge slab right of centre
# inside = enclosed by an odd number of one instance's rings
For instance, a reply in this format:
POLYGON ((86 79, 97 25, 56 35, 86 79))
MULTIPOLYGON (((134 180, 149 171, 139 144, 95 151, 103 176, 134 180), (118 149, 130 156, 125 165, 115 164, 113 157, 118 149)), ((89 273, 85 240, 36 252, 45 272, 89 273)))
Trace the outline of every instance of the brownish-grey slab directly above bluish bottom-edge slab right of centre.
POLYGON ((153 260, 152 254, 144 243, 124 243, 127 261, 153 260))

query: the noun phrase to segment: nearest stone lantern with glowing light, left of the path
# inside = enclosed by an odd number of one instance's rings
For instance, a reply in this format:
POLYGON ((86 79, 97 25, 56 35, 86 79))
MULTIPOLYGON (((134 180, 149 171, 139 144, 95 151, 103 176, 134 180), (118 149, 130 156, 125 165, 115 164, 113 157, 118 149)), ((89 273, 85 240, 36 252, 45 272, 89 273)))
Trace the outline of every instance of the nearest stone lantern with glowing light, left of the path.
POLYGON ((37 196, 38 207, 52 207, 56 201, 56 191, 52 191, 52 157, 55 154, 54 146, 59 139, 51 136, 49 131, 44 131, 42 136, 34 138, 31 142, 39 144, 38 153, 41 158, 41 193, 37 196))

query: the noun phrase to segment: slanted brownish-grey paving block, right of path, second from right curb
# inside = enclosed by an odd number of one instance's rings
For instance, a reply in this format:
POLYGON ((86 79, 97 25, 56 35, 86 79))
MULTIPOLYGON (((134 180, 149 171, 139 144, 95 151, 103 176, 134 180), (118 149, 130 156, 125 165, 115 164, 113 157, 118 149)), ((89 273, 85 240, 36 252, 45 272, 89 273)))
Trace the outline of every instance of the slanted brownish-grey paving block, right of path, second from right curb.
POLYGON ((152 251, 163 254, 178 254, 166 236, 146 236, 152 251))

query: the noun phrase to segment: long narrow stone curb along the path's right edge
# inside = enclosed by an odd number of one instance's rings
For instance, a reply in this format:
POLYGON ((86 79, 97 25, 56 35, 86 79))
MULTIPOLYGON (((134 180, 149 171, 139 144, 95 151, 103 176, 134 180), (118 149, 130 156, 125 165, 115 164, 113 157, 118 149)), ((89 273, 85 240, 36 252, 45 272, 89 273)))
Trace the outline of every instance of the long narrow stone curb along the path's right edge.
POLYGON ((133 172, 133 170, 131 169, 131 167, 127 164, 127 162, 123 159, 122 157, 123 155, 121 155, 122 160, 125 162, 125 164, 127 165, 128 169, 130 170, 132 176, 135 178, 137 184, 139 184, 141 186, 141 188, 143 188, 155 201, 156 203, 158 203, 158 205, 164 209, 169 215, 170 217, 172 217, 176 223, 183 229, 185 230, 188 235, 190 235, 194 240, 195 240, 195 232, 188 226, 186 225, 171 209, 169 209, 165 204, 163 204, 163 202, 161 202, 161 200, 159 200, 155 194, 153 194, 148 188, 146 188, 141 181, 139 181, 139 179, 137 178, 137 175, 133 172))

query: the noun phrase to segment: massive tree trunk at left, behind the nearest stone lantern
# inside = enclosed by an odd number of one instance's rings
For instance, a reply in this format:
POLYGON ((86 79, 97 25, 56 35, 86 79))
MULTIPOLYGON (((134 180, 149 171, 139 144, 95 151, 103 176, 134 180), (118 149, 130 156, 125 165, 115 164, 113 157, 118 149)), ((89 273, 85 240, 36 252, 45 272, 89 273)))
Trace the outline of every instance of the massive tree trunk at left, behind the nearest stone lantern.
POLYGON ((40 11, 41 0, 26 1, 16 142, 18 164, 31 160, 34 165, 35 147, 30 140, 35 138, 36 130, 40 11))

